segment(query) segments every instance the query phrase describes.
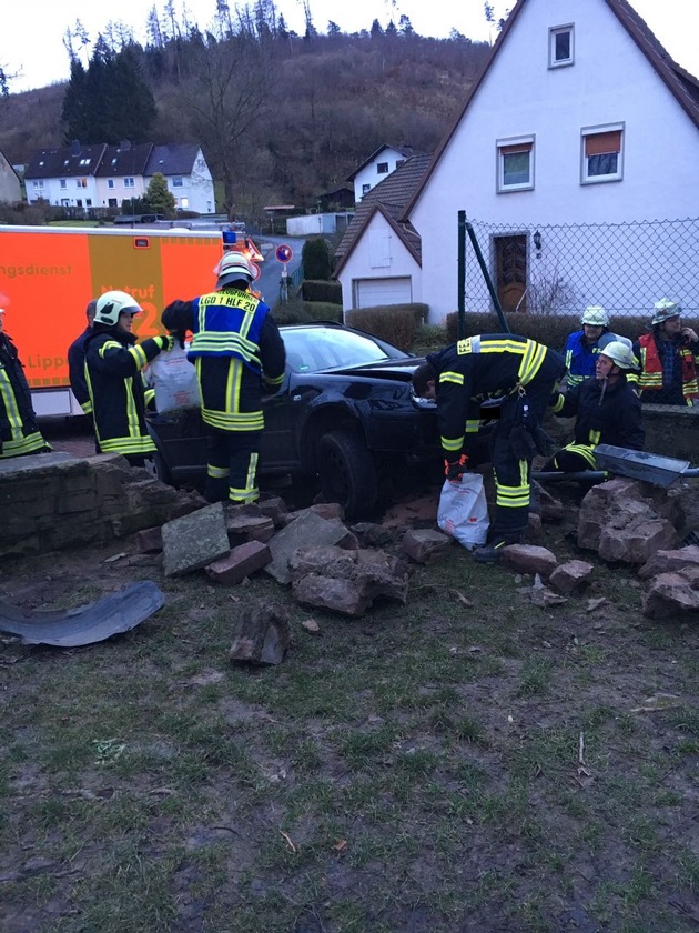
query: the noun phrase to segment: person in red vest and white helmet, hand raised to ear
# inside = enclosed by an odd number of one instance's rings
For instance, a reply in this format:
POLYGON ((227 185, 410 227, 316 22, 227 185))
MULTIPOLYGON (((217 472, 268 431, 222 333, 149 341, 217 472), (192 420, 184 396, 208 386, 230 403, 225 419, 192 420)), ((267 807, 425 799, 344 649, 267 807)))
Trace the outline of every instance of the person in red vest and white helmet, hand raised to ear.
POLYGON ((682 327, 681 315, 676 301, 661 298, 654 304, 651 332, 634 344, 640 361, 641 402, 691 405, 699 398, 699 338, 691 328, 682 327))

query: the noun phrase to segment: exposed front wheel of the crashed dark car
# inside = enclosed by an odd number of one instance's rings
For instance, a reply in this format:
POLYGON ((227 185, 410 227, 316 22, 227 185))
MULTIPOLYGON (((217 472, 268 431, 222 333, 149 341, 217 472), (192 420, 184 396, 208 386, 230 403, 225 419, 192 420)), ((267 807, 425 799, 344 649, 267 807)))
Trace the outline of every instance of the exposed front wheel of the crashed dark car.
POLYGON ((376 504, 378 482, 372 454, 359 437, 348 431, 330 431, 318 450, 321 490, 328 502, 340 502, 346 518, 371 511, 376 504))

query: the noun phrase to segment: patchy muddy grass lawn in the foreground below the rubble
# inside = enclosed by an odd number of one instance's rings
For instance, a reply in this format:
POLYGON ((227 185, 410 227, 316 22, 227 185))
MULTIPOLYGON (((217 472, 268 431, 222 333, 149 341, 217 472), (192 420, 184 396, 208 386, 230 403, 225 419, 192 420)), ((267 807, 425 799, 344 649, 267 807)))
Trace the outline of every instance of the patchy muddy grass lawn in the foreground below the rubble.
MULTIPOLYGON (((569 513, 537 542, 559 560, 569 513)), ((347 620, 120 552, 0 571, 23 605, 166 595, 110 642, 1 640, 6 933, 697 930, 698 631, 645 620, 630 571, 540 609, 454 545, 347 620), (293 646, 232 665, 260 600, 293 646)))

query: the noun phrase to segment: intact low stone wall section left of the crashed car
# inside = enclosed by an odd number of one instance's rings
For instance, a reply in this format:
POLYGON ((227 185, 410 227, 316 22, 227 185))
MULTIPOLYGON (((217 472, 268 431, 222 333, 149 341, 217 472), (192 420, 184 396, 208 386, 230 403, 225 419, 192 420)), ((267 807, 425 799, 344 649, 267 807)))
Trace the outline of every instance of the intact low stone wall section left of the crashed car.
POLYGON ((0 460, 0 558, 123 538, 199 508, 119 454, 0 460))

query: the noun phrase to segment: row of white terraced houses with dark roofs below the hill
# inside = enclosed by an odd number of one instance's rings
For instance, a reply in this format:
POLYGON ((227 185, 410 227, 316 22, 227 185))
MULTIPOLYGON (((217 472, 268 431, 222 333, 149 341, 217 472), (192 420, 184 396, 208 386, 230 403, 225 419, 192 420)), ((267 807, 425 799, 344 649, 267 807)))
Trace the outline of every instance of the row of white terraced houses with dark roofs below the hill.
POLYGON ((195 143, 83 146, 75 140, 71 146, 41 149, 27 167, 27 200, 118 210, 124 200, 142 198, 156 172, 166 178, 175 207, 197 213, 215 211, 211 172, 195 143))

